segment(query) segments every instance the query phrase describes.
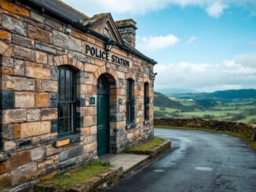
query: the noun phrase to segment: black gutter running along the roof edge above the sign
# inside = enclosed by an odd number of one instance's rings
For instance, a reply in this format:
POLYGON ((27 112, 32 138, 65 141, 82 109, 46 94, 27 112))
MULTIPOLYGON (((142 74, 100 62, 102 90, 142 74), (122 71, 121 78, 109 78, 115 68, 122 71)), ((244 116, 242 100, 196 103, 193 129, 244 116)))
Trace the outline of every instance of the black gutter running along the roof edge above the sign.
MULTIPOLYGON (((17 1, 13 0, 13 2, 17 2, 17 1)), ((70 24, 71 26, 73 26, 87 34, 91 34, 97 38, 100 38, 101 40, 104 40, 104 42, 108 42, 109 40, 111 40, 110 38, 108 38, 100 33, 97 33, 96 31, 93 31, 89 27, 82 26, 76 20, 71 20, 67 16, 57 13, 53 9, 49 9, 48 7, 46 7, 46 5, 42 5, 41 3, 35 2, 33 0, 20 0, 20 2, 23 2, 23 4, 31 6, 34 9, 37 9, 38 11, 41 11, 44 13, 49 13, 50 16, 56 17, 58 20, 63 21, 65 24, 70 24)), ((144 54, 142 54, 142 53, 137 53, 136 51, 134 51, 133 49, 131 49, 130 47, 128 47, 126 45, 121 45, 117 42, 115 42, 115 45, 118 46, 120 49, 126 50, 127 52, 132 53, 135 56, 139 56, 142 59, 147 60, 148 62, 152 63, 153 65, 155 65, 157 63, 155 60, 150 59, 148 56, 144 56, 144 54)))

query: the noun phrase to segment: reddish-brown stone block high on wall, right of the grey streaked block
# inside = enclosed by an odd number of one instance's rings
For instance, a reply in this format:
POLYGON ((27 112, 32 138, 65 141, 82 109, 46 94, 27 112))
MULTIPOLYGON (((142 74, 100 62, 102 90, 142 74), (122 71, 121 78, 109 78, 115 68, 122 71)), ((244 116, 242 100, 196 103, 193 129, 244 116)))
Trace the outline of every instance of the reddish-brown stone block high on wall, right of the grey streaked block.
POLYGON ((35 27, 33 25, 28 25, 27 36, 40 42, 51 42, 51 34, 49 31, 42 30, 41 28, 35 27))

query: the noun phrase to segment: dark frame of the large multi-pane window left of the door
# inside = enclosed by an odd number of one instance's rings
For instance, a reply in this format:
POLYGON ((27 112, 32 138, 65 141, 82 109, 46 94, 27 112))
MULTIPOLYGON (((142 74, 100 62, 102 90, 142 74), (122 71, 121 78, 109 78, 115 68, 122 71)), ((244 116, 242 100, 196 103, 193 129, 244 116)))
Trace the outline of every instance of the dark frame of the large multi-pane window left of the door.
POLYGON ((74 135, 76 133, 76 127, 75 127, 75 118, 76 118, 76 71, 71 68, 71 67, 66 67, 66 66, 60 66, 58 67, 59 70, 59 81, 58 81, 58 137, 59 138, 63 138, 65 136, 71 136, 74 135), (62 94, 63 89, 61 89, 61 71, 64 70, 64 94, 62 94), (67 72, 69 71, 69 86, 66 85, 66 83, 68 82, 67 80, 67 72), (68 88, 69 87, 69 88, 68 88), (67 95, 67 89, 69 90, 69 95, 67 95), (61 93, 61 94, 60 94, 61 93), (67 100, 66 98, 69 96, 69 100, 67 100), (64 97, 64 100, 62 100, 62 98, 64 97), (64 116, 64 111, 60 111, 60 106, 64 106, 66 105, 66 110, 68 112, 66 112, 68 115, 64 116), (60 117, 60 114, 63 114, 60 117), (65 121, 66 119, 68 119, 69 121, 69 127, 68 127, 68 132, 65 132, 65 121), (64 132, 60 132, 60 120, 64 120, 64 128, 62 128, 62 131, 64 130, 64 132))

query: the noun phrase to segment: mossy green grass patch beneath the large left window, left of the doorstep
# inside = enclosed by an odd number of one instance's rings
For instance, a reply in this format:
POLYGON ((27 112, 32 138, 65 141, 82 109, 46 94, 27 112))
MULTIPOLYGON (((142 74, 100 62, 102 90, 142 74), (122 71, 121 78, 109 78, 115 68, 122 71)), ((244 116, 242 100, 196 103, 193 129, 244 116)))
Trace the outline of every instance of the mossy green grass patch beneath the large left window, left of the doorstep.
POLYGON ((73 172, 66 172, 64 175, 48 180, 47 183, 52 183, 57 187, 74 187, 75 185, 82 184, 87 179, 108 170, 110 167, 111 165, 105 161, 90 161, 88 164, 82 165, 73 172))

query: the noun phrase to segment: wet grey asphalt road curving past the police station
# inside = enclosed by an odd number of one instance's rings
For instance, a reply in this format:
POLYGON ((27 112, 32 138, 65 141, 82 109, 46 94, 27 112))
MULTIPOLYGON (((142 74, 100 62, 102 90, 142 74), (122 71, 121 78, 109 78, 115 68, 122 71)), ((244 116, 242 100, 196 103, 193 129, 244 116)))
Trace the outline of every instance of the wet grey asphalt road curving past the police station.
POLYGON ((241 139, 178 129, 155 129, 155 136, 173 148, 108 191, 256 192, 256 153, 241 139))

